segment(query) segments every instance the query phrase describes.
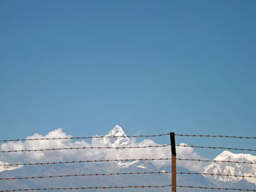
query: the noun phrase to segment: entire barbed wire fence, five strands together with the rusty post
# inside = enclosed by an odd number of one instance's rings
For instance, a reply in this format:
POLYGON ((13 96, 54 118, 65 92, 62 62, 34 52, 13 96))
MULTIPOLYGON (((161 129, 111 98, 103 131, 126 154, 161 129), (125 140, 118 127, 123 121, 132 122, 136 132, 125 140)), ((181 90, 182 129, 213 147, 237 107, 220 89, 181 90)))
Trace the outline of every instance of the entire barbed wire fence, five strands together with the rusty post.
POLYGON ((256 162, 249 161, 217 161, 217 160, 206 160, 197 158, 176 158, 176 147, 195 147, 204 149, 220 149, 220 150, 244 150, 244 151, 256 151, 256 149, 249 148, 235 148, 235 147, 215 147, 215 146, 198 146, 198 145, 176 145, 176 137, 212 137, 212 138, 225 138, 225 139, 256 139, 256 137, 240 137, 240 136, 227 136, 227 135, 203 135, 203 134, 175 134, 174 132, 166 134, 154 134, 154 135, 132 135, 132 136, 95 136, 95 137, 53 137, 53 138, 29 138, 29 139, 4 139, 0 142, 24 142, 24 141, 42 141, 42 140, 61 140, 61 139, 103 139, 103 138, 119 138, 119 137, 165 137, 170 136, 170 144, 167 145, 145 145, 145 146, 122 146, 122 147, 56 147, 56 148, 42 148, 42 149, 26 149, 26 150, 0 150, 0 154, 3 153, 19 153, 19 152, 38 152, 38 151, 56 151, 56 150, 98 150, 98 149, 146 149, 146 148, 161 148, 170 147, 171 154, 167 158, 121 158, 121 159, 96 159, 96 160, 81 160, 81 161, 52 161, 52 162, 34 162, 24 164, 1 164, 1 166, 40 166, 50 164, 80 164, 80 163, 101 163, 101 162, 121 162, 121 161, 171 161, 171 172, 110 172, 110 173, 84 173, 84 174, 59 174, 59 175, 39 175, 39 176, 27 176, 27 177, 0 177, 0 180, 40 180, 50 178, 61 178, 61 177, 90 177, 90 176, 104 176, 109 177, 113 175, 138 175, 138 174, 169 174, 171 176, 171 183, 165 185, 127 185, 127 186, 84 186, 84 187, 71 187, 71 188, 16 188, 16 189, 1 189, 0 192, 9 191, 78 191, 78 190, 90 190, 90 189, 125 189, 125 188, 170 188, 172 192, 176 192, 176 188, 195 188, 204 190, 217 190, 217 191, 256 191, 256 189, 250 188, 215 188, 206 186, 193 186, 193 185, 177 185, 176 174, 188 174, 188 175, 206 175, 206 176, 217 176, 217 177, 242 177, 242 178, 256 178, 255 175, 241 175, 241 174, 215 174, 206 172, 176 172, 176 161, 198 161, 198 162, 217 162, 227 164, 256 164, 256 162))

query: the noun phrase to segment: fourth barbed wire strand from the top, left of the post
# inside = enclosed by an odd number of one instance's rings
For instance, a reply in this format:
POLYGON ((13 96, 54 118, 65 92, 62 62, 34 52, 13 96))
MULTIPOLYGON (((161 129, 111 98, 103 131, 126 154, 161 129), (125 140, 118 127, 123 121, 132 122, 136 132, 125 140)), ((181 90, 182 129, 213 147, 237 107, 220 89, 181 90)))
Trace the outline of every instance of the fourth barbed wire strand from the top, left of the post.
POLYGON ((96 174, 64 174, 64 175, 49 175, 49 176, 34 176, 34 177, 6 177, 0 180, 29 180, 29 179, 45 179, 57 177, 86 177, 86 176, 112 176, 126 174, 170 174, 170 172, 116 172, 116 173, 96 173, 96 174))

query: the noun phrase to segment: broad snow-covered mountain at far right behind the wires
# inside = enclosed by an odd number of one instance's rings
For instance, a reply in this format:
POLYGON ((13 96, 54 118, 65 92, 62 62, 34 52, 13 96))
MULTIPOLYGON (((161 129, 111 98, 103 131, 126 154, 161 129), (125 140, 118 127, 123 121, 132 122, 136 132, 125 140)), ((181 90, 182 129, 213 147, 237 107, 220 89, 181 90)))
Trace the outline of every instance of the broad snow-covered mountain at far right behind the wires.
MULTIPOLYGON (((230 151, 223 151, 214 161, 237 161, 237 162, 252 162, 256 163, 256 156, 244 153, 231 153, 230 151)), ((225 163, 225 162, 211 162, 205 167, 204 173, 210 174, 230 174, 230 175, 256 175, 256 165, 255 164, 238 164, 238 163, 225 163)), ((209 176, 205 175, 209 180, 214 183, 224 182, 224 183, 238 183, 241 180, 246 180, 249 183, 254 183, 256 185, 256 178, 254 177, 227 177, 227 176, 209 176)))

